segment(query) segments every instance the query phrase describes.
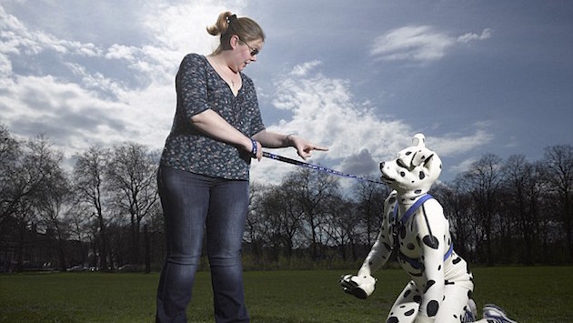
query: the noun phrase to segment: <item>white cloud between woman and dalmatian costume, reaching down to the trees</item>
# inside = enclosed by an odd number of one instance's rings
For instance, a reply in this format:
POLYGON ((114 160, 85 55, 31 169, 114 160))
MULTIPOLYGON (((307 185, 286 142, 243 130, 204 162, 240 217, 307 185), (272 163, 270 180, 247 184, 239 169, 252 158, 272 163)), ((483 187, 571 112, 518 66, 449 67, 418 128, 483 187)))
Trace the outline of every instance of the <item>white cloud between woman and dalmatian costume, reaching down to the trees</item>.
MULTIPOLYGON (((403 122, 380 120, 372 109, 354 102, 347 80, 328 78, 320 73, 306 77, 290 75, 277 79, 275 87, 273 105, 289 110, 292 118, 267 128, 295 133, 315 144, 328 146, 326 153, 315 152, 311 163, 367 175, 376 170, 373 165, 383 156, 395 154, 412 132, 403 122)), ((299 158, 292 148, 279 153, 299 158)), ((276 167, 276 163, 274 160, 255 163, 254 180, 277 181, 294 169, 286 164, 276 167)))

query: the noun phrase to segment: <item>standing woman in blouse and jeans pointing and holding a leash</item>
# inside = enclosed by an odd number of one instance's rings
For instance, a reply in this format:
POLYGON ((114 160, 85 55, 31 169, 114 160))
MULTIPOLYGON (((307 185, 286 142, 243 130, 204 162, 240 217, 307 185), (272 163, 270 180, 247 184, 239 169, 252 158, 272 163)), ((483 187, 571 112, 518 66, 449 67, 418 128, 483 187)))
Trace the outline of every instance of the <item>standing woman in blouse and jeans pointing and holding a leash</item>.
POLYGON ((327 150, 266 131, 253 81, 242 73, 265 42, 255 21, 225 12, 207 31, 220 35, 220 45, 209 56, 185 56, 179 66, 176 115, 157 173, 167 248, 157 322, 186 321, 204 232, 216 322, 248 322, 241 242, 250 160, 261 159, 263 146, 293 146, 303 159, 327 150))

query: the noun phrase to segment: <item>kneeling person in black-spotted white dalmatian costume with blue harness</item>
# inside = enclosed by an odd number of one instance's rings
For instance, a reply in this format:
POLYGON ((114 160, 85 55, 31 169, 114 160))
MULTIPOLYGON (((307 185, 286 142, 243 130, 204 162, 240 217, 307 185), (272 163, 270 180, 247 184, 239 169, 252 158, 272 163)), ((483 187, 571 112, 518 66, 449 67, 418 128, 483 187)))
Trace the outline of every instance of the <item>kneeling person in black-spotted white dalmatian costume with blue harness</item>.
MULTIPOLYGON (((426 147, 422 134, 414 136, 412 146, 396 159, 380 163, 381 179, 394 191, 384 203, 376 243, 357 275, 344 276, 340 284, 348 294, 367 298, 376 284, 372 274, 396 253, 411 281, 397 297, 387 323, 477 321, 472 274, 454 250, 441 205, 427 193, 441 168, 439 156, 426 147)), ((477 322, 515 323, 493 304, 484 307, 477 322)))

